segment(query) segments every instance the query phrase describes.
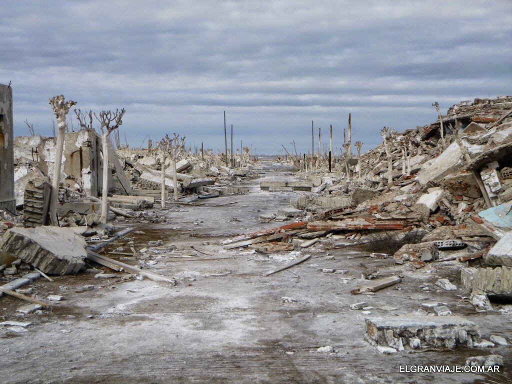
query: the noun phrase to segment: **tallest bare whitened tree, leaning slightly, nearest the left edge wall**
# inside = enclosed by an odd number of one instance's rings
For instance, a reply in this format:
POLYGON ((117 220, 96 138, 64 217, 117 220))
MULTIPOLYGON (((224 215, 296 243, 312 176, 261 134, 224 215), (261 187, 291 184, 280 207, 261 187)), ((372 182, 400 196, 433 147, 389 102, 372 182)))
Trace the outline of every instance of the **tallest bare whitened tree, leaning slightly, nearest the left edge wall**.
POLYGON ((64 95, 52 97, 49 101, 55 118, 57 119, 57 142, 55 144, 55 163, 53 165, 52 192, 50 195, 50 221, 52 225, 58 225, 57 202, 60 186, 60 167, 62 164, 62 153, 64 151, 64 135, 66 133, 66 116, 70 108, 76 104, 75 101, 65 101, 64 95))

